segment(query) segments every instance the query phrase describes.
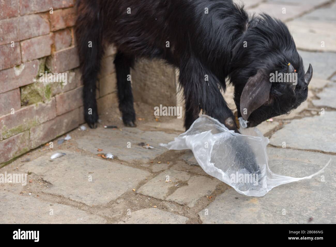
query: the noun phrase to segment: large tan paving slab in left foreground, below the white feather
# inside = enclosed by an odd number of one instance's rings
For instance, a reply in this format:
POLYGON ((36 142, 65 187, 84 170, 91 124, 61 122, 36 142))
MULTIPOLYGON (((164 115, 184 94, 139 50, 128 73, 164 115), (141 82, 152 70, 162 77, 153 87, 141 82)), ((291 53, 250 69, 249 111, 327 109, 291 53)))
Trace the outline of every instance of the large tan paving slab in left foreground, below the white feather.
POLYGON ((148 171, 99 157, 91 158, 64 150, 58 152, 66 155, 52 162, 49 161, 50 154, 44 155, 22 168, 51 183, 42 191, 62 195, 90 206, 117 199, 149 175, 148 171), (89 176, 92 176, 92 182, 89 182, 89 176))

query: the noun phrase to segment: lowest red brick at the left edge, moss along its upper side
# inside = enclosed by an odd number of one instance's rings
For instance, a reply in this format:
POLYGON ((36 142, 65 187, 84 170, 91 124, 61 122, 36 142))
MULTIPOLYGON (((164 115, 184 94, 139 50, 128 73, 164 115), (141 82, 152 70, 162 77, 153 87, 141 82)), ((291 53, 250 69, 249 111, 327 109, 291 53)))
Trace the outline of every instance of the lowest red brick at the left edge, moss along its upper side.
POLYGON ((28 152, 29 131, 20 133, 0 142, 0 163, 11 160, 23 153, 28 152))

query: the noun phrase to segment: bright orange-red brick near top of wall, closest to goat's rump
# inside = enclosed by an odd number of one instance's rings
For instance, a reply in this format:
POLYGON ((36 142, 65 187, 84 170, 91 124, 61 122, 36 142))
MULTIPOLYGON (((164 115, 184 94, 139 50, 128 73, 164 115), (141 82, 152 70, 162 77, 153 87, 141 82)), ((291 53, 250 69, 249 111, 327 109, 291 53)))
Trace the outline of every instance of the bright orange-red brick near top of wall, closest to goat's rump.
POLYGON ((76 22, 75 8, 58 9, 49 14, 51 31, 72 27, 76 22))

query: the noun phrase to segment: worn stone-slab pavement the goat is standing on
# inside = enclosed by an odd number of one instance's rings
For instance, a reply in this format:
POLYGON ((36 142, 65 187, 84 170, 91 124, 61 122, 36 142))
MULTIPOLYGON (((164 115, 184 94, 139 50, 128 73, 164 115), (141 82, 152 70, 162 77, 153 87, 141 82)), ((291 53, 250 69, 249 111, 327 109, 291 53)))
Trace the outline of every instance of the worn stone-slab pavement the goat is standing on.
MULTIPOLYGON (((57 144, 58 138, 52 148, 39 147, 0 168, 0 174, 28 174, 26 186, 0 184, 0 224, 335 224, 336 3, 244 2, 251 12, 265 11, 287 21, 305 67, 311 63, 314 69, 308 100, 289 115, 258 126, 270 139, 270 169, 304 177, 332 158, 322 174, 276 187, 263 197, 241 195, 205 174, 190 151, 159 146, 183 132, 182 119, 156 121, 153 113, 146 115, 136 105, 137 128, 111 120, 118 112, 101 113, 97 129, 74 130, 71 140, 57 144), (104 124, 119 128, 104 129, 104 124), (145 144, 154 149, 143 148, 145 144), (56 152, 66 155, 51 160, 56 152), (105 153, 115 157, 103 158, 105 153)), ((234 109, 232 88, 225 99, 234 109)))

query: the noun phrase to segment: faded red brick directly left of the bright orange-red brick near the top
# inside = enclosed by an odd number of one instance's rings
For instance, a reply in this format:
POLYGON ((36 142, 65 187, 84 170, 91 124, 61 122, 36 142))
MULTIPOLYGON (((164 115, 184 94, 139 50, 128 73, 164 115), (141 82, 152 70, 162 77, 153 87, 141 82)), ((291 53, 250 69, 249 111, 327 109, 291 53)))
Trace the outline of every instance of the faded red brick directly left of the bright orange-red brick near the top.
POLYGON ((49 21, 44 15, 31 14, 19 18, 20 40, 46 35, 49 32, 49 21))

